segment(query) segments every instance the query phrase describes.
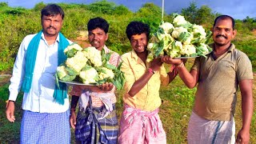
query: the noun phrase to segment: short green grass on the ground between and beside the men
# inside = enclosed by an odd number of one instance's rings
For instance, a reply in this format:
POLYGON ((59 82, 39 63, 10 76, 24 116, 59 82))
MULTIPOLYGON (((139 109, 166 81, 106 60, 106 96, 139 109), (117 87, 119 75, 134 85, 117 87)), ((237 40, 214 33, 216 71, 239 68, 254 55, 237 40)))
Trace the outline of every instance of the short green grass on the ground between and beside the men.
MULTIPOLYGON (((189 66, 191 62, 189 61, 189 66)), ((190 67, 188 67, 190 68, 190 67)), ((254 75, 255 78, 255 75, 254 75)), ((0 79, 0 82, 2 80, 0 79)), ((256 80, 254 79, 254 105, 256 103, 256 80)), ((18 143, 19 129, 22 116, 21 102, 22 94, 19 94, 16 102, 15 118, 16 122, 10 123, 6 120, 5 101, 8 98, 9 83, 2 83, 0 86, 0 143, 18 143)), ((196 89, 188 89, 182 83, 179 77, 175 78, 170 86, 162 87, 160 96, 162 98, 162 106, 160 107, 160 117, 162 124, 166 130, 167 143, 187 143, 186 129, 190 118, 191 108, 194 102, 194 93, 196 89)), ((122 113, 122 91, 118 91, 117 110, 118 116, 122 113)), ((254 108, 255 111, 255 108, 254 108)), ((235 114, 236 131, 241 128, 242 113, 241 113, 241 95, 238 94, 238 104, 235 114)), ((72 142, 74 143, 74 130, 72 131, 72 142)), ((251 129, 250 129, 250 143, 256 143, 256 114, 254 113, 251 129)))

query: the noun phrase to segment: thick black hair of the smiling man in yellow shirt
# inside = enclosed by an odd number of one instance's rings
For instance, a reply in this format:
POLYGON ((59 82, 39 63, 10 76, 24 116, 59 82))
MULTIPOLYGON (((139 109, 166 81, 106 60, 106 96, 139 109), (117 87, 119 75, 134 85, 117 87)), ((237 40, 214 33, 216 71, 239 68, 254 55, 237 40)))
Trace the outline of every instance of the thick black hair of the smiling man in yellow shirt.
POLYGON ((130 22, 128 26, 126 26, 126 36, 130 40, 131 36, 135 34, 146 34, 147 40, 150 38, 150 26, 143 22, 130 22))

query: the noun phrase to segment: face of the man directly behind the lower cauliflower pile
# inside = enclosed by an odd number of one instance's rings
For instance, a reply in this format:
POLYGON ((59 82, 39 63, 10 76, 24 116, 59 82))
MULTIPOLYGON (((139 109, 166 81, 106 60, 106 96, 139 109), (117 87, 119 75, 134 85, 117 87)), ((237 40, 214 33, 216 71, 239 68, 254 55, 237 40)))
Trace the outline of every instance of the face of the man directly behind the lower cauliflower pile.
POLYGON ((91 30, 88 34, 90 45, 94 46, 97 50, 102 50, 108 38, 108 34, 100 28, 91 30))

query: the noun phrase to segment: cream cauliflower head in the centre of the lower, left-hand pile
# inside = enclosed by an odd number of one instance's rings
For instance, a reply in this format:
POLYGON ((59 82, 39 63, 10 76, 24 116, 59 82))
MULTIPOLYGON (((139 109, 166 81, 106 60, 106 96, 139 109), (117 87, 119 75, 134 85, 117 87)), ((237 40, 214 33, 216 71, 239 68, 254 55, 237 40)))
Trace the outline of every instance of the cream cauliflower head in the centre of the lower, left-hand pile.
MULTIPOLYGON (((82 51, 78 51, 74 57, 66 59, 66 66, 70 67, 75 73, 79 74, 82 67, 86 66, 88 59, 82 51)), ((72 74, 73 75, 73 74, 72 74)))

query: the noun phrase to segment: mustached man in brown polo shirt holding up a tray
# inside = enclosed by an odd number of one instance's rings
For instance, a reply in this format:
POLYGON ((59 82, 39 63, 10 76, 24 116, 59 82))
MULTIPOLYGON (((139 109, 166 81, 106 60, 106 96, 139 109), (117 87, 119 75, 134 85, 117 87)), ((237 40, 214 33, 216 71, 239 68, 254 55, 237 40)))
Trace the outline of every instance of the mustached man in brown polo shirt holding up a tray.
MULTIPOLYGON (((186 86, 194 88, 198 85, 188 126, 188 142, 248 143, 253 114, 251 62, 231 43, 237 33, 234 18, 218 16, 212 32, 214 43, 210 46, 213 51, 206 57, 196 58, 190 72, 185 66, 178 68, 186 86), (238 86, 242 95, 242 128, 235 138, 234 112, 238 86)), ((179 59, 166 59, 172 64, 182 65, 179 59)))

